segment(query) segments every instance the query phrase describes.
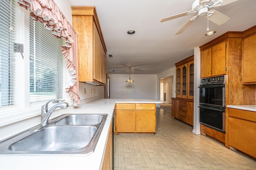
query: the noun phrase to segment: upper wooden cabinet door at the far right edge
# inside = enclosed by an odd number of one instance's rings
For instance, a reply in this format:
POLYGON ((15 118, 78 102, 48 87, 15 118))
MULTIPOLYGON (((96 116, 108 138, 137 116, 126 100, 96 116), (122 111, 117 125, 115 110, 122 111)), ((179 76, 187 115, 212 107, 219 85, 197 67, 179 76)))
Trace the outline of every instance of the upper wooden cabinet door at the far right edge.
POLYGON ((244 39, 243 82, 256 82, 256 35, 244 39))

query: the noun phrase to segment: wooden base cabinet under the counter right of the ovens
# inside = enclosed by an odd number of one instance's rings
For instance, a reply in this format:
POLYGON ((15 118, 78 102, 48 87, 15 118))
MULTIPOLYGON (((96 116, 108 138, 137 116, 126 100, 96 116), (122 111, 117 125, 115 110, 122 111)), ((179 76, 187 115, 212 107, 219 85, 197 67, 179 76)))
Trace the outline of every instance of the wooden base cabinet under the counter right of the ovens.
POLYGON ((228 108, 228 145, 256 158, 256 112, 228 108))

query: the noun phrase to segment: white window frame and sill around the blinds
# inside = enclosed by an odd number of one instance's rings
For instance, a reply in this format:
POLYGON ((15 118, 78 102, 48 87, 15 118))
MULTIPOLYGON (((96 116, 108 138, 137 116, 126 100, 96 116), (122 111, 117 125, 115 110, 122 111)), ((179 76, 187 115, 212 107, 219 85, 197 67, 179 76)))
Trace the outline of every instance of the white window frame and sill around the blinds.
MULTIPOLYGON (((0 108, 0 127, 28 119, 41 114, 41 106, 45 102, 38 102, 30 104, 30 40, 29 40, 29 11, 18 6, 17 4, 17 18, 16 18, 16 37, 17 43, 24 45, 22 58, 20 53, 15 53, 15 97, 14 106, 7 106, 0 108)), ((66 61, 64 61, 63 72, 67 74, 66 61)), ((66 86, 67 76, 64 76, 64 87, 66 86)), ((73 100, 63 89, 63 99, 69 104, 73 105, 73 100)))

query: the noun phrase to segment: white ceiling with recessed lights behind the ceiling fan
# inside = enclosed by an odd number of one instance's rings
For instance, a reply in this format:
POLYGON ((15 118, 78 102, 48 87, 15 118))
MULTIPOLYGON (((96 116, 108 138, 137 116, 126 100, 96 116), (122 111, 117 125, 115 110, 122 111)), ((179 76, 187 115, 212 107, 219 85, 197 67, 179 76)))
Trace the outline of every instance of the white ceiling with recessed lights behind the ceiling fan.
POLYGON ((217 31, 211 36, 205 36, 207 19, 204 17, 198 17, 180 35, 174 34, 191 15, 160 23, 162 18, 191 10, 194 0, 69 1, 71 6, 96 6, 108 50, 108 74, 129 74, 129 67, 131 74, 158 74, 193 55, 195 47, 227 31, 244 31, 256 25, 256 0, 238 0, 214 8, 230 20, 223 25, 209 21, 209 29, 217 31), (136 33, 128 35, 129 29, 136 33))

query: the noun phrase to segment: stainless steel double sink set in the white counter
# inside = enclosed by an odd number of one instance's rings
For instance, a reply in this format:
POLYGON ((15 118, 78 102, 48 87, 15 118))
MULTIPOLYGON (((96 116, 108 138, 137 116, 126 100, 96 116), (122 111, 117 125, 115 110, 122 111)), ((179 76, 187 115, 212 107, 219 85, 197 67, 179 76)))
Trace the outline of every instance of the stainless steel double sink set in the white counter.
POLYGON ((90 154, 107 114, 64 114, 0 142, 0 154, 90 154))

